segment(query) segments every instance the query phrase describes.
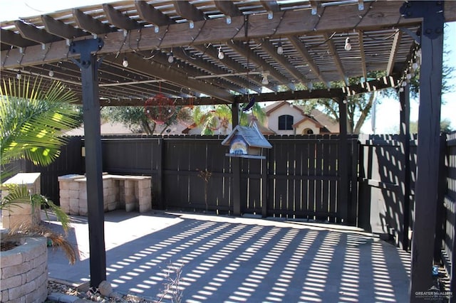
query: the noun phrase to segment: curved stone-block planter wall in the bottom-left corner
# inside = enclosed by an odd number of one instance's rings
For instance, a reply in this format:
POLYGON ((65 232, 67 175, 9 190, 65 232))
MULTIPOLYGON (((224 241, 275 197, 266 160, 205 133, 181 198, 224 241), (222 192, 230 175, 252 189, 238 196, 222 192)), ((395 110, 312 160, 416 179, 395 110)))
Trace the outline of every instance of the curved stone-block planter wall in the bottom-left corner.
POLYGON ((47 239, 22 240, 22 245, 1 252, 0 302, 45 302, 48 297, 47 239))

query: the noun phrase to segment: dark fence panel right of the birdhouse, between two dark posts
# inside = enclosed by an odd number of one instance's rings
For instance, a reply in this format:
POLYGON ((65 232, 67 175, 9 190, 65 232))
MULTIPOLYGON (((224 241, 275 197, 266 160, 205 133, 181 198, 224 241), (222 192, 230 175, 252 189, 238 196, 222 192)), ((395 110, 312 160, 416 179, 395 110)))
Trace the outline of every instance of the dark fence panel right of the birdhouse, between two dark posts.
POLYGON ((269 216, 338 221, 337 137, 268 139, 273 146, 268 159, 269 216))

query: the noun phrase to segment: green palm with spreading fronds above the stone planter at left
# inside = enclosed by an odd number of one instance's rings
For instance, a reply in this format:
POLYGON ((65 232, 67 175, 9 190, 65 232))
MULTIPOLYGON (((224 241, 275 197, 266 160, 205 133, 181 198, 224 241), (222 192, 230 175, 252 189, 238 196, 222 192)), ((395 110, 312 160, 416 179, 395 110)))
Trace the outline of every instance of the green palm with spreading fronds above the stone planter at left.
MULTIPOLYGON (((63 132, 79 124, 78 112, 71 104, 76 101, 74 93, 58 81, 43 90, 39 78, 32 81, 24 77, 21 80, 4 79, 0 85, 0 98, 1 179, 16 172, 6 169, 6 165, 17 159, 27 159, 41 166, 51 164, 66 144, 63 132)), ((21 203, 40 208, 46 206, 56 214, 64 230, 68 230, 68 215, 51 200, 29 193, 25 186, 7 189, 8 194, 0 200, 0 209, 21 207, 21 203)))

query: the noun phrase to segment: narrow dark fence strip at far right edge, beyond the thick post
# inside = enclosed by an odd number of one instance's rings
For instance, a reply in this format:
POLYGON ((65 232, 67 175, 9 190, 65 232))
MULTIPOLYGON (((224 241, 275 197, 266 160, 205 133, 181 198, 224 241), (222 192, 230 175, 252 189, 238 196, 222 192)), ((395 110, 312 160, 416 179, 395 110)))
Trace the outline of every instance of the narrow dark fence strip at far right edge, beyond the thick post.
POLYGON ((456 132, 447 135, 447 190, 444 197, 442 260, 450 276, 450 290, 456 292, 456 132))

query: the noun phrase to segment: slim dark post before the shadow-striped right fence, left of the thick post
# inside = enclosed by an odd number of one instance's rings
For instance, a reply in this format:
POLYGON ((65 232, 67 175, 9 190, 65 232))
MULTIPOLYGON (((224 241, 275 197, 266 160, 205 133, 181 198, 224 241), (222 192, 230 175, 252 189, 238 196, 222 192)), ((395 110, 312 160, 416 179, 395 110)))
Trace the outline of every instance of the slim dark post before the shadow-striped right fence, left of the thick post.
POLYGON ((410 228, 410 86, 403 87, 400 100, 400 141, 402 142, 403 166, 401 171, 401 193, 403 203, 403 235, 399 239, 403 250, 409 250, 410 228))

